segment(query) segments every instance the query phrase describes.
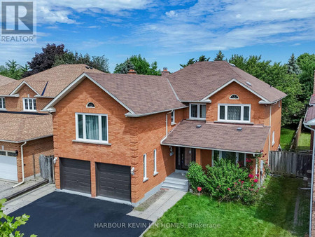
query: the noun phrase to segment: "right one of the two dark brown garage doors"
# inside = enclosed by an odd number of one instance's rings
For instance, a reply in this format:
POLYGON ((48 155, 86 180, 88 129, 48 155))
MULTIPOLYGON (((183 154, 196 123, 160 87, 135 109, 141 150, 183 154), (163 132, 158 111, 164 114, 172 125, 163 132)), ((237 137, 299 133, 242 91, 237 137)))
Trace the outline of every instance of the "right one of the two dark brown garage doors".
POLYGON ((97 195, 131 200, 130 166, 97 163, 97 195))

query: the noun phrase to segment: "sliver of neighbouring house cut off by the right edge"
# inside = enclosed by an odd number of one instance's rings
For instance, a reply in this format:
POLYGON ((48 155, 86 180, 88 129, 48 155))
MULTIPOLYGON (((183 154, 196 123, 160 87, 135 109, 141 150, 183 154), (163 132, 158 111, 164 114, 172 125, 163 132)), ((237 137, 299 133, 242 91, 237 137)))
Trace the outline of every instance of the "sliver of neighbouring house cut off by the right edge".
POLYGON ((310 203, 310 214, 309 214, 309 236, 315 236, 315 193, 314 193, 314 130, 315 130, 315 74, 314 74, 314 88, 313 95, 309 100, 309 107, 304 117, 304 127, 311 130, 311 150, 312 152, 312 165, 311 165, 311 203, 310 203))

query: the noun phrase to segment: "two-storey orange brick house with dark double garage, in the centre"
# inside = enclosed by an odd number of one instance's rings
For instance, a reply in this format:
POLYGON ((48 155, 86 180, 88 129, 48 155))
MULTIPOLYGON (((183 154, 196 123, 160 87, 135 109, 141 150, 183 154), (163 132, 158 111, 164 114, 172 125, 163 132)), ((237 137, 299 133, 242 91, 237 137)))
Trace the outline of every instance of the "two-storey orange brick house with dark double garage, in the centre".
POLYGON ((267 161, 279 149, 285 96, 225 61, 162 76, 85 72, 43 108, 56 187, 137 205, 190 161, 246 165, 261 150, 267 161))

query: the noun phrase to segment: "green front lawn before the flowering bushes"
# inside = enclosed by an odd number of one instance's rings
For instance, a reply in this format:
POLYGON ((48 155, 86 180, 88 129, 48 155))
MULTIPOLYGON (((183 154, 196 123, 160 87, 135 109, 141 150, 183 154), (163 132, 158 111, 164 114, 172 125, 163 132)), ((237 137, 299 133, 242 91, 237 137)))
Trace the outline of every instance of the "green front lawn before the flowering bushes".
POLYGON ((257 205, 218 205, 209 196, 188 193, 145 236, 304 236, 309 227, 309 191, 298 189, 302 180, 272 177, 265 185, 257 205))

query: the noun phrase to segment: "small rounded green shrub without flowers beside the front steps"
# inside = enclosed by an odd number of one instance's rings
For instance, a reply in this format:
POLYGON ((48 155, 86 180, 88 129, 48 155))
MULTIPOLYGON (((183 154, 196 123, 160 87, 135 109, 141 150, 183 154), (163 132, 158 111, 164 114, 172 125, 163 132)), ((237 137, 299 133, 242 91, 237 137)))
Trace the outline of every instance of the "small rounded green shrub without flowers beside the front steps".
POLYGON ((207 183, 205 180, 207 176, 205 175, 204 170, 202 170, 202 166, 195 162, 190 162, 186 177, 194 191, 197 191, 197 187, 204 187, 207 183))

